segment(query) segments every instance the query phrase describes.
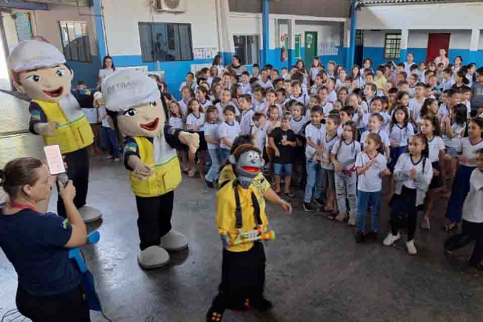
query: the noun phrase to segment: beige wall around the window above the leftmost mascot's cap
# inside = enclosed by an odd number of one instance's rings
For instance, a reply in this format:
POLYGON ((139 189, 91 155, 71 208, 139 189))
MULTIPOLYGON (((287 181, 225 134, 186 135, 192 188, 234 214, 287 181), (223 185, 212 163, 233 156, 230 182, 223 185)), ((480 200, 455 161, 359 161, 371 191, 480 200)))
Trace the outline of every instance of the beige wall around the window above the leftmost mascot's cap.
POLYGON ((87 23, 91 54, 97 55, 96 30, 93 23, 93 12, 89 8, 79 8, 63 5, 49 5, 48 11, 38 10, 33 15, 32 24, 36 27, 34 35, 43 36, 51 44, 62 51, 62 40, 60 38, 59 21, 83 21, 87 23), (79 15, 79 12, 81 15, 79 15), (86 15, 86 16, 82 16, 86 15))

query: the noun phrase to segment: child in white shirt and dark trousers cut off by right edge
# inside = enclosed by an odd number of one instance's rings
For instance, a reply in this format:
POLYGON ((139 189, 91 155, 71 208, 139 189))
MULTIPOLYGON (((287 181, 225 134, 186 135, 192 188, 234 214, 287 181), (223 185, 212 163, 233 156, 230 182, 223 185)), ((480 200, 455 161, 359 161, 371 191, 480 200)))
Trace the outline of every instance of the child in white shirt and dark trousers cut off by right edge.
POLYGON ((444 244, 447 252, 476 241, 469 265, 483 271, 483 148, 476 151, 477 168, 469 179, 470 189, 463 203, 462 233, 449 237, 444 244))

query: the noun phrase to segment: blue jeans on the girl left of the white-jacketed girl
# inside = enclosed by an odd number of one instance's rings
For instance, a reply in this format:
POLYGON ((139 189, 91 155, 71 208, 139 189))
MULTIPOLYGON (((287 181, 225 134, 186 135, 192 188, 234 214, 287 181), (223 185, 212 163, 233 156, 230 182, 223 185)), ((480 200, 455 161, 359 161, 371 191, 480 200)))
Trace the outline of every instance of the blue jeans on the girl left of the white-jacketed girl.
POLYGON ((365 192, 357 190, 357 232, 366 232, 366 213, 369 204, 371 208, 371 230, 379 229, 379 209, 381 207, 382 190, 365 192))

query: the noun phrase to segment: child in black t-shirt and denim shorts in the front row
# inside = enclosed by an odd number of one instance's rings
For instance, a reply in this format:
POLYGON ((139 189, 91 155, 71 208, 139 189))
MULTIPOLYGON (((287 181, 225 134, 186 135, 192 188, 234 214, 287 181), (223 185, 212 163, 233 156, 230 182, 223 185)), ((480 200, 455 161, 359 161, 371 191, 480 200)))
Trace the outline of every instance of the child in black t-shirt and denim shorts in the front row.
POLYGON ((285 194, 293 198, 290 193, 290 179, 293 172, 293 160, 295 148, 297 147, 297 137, 290 129, 290 116, 284 116, 280 127, 273 129, 269 135, 269 144, 275 150, 273 158, 273 173, 275 177, 275 192, 281 193, 280 177, 285 175, 285 194))

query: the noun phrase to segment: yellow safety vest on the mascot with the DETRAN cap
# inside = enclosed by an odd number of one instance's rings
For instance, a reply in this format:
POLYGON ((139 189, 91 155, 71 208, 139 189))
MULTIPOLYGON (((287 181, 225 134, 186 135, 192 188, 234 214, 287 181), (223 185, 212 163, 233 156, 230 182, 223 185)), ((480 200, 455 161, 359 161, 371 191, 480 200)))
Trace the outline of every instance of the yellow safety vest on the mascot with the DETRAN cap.
POLYGON ((182 180, 176 149, 173 149, 163 136, 154 137, 154 143, 146 137, 134 137, 134 140, 142 163, 154 169, 153 174, 145 180, 136 178, 132 172, 129 173, 134 194, 147 198, 175 190, 182 180), (154 144, 159 148, 154 150, 154 144))

